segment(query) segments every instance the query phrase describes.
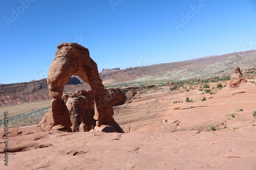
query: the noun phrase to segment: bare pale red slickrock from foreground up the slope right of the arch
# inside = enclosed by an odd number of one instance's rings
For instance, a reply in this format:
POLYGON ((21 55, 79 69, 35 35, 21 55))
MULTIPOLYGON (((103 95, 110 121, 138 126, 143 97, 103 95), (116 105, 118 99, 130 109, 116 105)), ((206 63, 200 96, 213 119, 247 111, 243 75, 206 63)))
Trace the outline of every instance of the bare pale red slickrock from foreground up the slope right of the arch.
MULTIPOLYGON (((229 81, 186 81, 176 90, 171 86, 139 90, 133 99, 113 107, 125 133, 68 133, 35 127, 36 122, 9 128, 8 166, 1 130, 0 167, 256 169, 256 85, 255 79, 248 81, 235 88, 229 81)), ((43 104, 46 107, 49 101, 43 104)))

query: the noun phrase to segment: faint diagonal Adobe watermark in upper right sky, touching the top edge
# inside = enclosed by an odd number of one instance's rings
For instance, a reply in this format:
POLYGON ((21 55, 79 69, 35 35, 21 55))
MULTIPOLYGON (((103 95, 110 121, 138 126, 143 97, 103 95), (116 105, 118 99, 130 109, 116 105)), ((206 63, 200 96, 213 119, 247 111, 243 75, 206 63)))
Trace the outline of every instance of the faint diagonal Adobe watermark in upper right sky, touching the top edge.
POLYGON ((206 3, 204 0, 199 0, 198 5, 195 5, 195 6, 190 5, 189 8, 191 10, 188 11, 186 15, 183 13, 181 14, 182 16, 181 22, 177 22, 177 21, 174 22, 174 26, 178 31, 178 33, 180 32, 180 29, 184 28, 190 22, 190 20, 193 19, 196 16, 196 14, 198 14, 201 11, 201 8, 205 6, 206 6, 206 3))

